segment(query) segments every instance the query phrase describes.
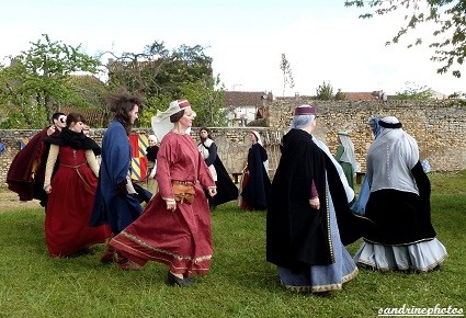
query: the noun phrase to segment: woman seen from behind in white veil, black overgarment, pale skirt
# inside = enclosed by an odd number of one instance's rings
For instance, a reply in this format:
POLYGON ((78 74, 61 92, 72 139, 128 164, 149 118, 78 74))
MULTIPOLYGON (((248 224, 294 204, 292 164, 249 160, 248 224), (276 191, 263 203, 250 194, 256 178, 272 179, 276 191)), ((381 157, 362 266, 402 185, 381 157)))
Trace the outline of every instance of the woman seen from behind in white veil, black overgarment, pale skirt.
POLYGON ((365 216, 375 228, 364 236, 354 260, 380 271, 432 270, 447 253, 431 224, 431 185, 418 144, 396 117, 382 118, 379 125, 366 161, 371 195, 365 216))

